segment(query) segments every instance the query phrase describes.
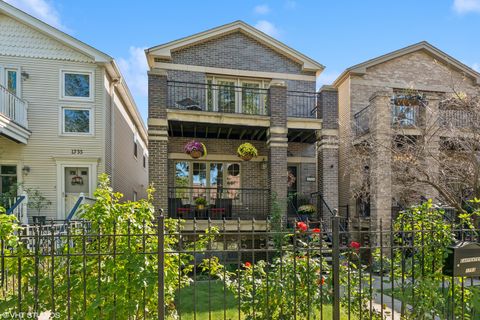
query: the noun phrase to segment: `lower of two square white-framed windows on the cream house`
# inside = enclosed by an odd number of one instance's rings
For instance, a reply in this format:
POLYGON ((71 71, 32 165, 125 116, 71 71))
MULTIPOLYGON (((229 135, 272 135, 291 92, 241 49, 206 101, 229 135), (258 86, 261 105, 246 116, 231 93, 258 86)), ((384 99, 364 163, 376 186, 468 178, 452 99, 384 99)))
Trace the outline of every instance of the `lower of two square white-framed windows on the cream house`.
POLYGON ((92 134, 91 108, 62 108, 63 128, 66 134, 92 134))

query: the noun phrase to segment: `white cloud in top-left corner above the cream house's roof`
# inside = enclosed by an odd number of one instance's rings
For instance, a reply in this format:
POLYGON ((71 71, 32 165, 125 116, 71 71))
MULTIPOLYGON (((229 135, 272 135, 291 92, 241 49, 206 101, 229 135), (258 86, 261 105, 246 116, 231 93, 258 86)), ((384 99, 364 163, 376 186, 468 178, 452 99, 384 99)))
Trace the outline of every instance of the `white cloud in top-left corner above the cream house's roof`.
POLYGON ((63 31, 68 28, 62 23, 60 14, 48 0, 5 0, 5 2, 63 31))

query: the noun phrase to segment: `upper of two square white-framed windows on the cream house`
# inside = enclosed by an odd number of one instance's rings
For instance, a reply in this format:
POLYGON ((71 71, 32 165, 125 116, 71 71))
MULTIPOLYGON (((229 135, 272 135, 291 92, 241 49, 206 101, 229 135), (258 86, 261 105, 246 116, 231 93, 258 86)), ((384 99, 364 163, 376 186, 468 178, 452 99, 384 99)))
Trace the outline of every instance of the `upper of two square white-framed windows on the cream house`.
POLYGON ((62 71, 64 99, 91 100, 93 97, 93 72, 62 71))

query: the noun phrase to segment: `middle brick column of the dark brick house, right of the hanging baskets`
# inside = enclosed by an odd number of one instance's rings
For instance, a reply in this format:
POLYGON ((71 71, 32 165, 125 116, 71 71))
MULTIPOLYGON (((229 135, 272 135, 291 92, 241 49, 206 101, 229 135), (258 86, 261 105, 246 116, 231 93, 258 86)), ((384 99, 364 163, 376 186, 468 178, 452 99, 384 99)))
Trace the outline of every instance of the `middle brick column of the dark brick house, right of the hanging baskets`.
POLYGON ((287 216, 287 87, 282 81, 270 84, 270 128, 268 130, 268 187, 276 196, 282 215, 287 216))

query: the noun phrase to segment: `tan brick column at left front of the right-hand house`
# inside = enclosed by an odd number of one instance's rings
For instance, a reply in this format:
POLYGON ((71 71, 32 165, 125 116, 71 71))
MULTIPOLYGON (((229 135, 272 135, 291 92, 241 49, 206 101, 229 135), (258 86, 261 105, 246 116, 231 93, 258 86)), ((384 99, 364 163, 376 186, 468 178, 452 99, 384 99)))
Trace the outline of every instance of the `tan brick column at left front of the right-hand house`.
POLYGON ((377 92, 370 98, 370 132, 374 141, 371 152, 370 216, 375 227, 380 219, 389 228, 392 212, 392 141, 391 92, 377 92))

